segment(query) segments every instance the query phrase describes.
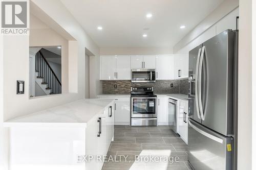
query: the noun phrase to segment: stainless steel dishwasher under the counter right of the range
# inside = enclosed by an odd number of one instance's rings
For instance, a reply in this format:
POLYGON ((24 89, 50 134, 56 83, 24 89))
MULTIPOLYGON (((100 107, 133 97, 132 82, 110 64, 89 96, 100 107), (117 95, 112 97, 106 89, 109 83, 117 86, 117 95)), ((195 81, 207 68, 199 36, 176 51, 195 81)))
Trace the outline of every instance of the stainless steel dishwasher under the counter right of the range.
POLYGON ((177 101, 168 99, 168 122, 175 133, 178 133, 177 101))

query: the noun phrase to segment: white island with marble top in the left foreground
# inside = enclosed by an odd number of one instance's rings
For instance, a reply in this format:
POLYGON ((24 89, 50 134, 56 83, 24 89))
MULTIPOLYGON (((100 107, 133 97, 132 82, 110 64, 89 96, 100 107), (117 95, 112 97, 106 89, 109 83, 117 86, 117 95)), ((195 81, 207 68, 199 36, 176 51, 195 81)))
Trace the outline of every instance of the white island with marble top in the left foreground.
POLYGON ((101 169, 113 140, 113 100, 83 99, 4 126, 10 128, 11 170, 101 169), (93 156, 90 162, 85 155, 93 156))

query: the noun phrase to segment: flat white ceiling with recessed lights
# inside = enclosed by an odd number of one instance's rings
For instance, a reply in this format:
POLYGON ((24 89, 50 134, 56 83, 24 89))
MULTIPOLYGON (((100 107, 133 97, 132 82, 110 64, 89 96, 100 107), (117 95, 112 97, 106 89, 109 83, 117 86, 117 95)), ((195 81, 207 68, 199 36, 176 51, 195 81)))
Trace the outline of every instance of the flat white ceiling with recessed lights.
POLYGON ((61 0, 99 47, 172 47, 223 1, 61 0))

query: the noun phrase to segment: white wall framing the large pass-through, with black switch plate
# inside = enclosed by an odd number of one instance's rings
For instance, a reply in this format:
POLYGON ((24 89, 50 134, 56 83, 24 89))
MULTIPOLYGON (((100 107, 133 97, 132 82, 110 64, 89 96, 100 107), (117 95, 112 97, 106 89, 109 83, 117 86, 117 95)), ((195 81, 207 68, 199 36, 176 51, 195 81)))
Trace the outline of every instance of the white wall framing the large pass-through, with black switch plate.
MULTIPOLYGON (((69 41, 74 42, 77 40, 77 52, 74 52, 77 56, 72 56, 74 58, 70 58, 69 56, 69 60, 76 62, 73 62, 73 65, 69 64, 69 69, 72 69, 73 72, 68 72, 69 76, 73 78, 72 81, 69 80, 68 84, 76 84, 77 86, 74 88, 77 88, 77 93, 68 92, 60 95, 29 99, 29 36, 4 36, 4 51, 0 50, 1 53, 3 52, 4 56, 3 64, 0 62, 0 89, 2 89, 0 90, 0 161, 2 162, 3 159, 8 160, 8 130, 3 129, 3 121, 84 98, 85 76, 84 71, 81 71, 84 69, 85 63, 84 48, 87 47, 96 56, 99 56, 98 46, 88 34, 84 32, 79 23, 60 1, 32 0, 29 3, 30 5, 34 3, 39 7, 39 10, 36 10, 36 15, 39 16, 41 20, 46 20, 59 34, 63 34, 63 37, 69 41), (48 16, 51 18, 49 19, 48 16), (4 70, 4 74, 2 69, 4 70), (16 94, 16 80, 25 80, 25 94, 16 94), (2 97, 5 101, 4 104, 2 97), (2 109, 4 113, 2 113, 2 109), (4 146, 3 142, 6 143, 4 146), (3 150, 5 152, 2 152, 3 150)), ((73 49, 75 49, 75 47, 73 49)), ((2 60, 0 59, 0 61, 2 60)), ((68 90, 69 89, 70 88, 68 88, 68 90)), ((2 162, 1 166, 3 165, 2 162)), ((5 161, 5 165, 8 165, 6 162, 8 161, 5 161)), ((4 169, 2 167, 0 168, 4 169)))

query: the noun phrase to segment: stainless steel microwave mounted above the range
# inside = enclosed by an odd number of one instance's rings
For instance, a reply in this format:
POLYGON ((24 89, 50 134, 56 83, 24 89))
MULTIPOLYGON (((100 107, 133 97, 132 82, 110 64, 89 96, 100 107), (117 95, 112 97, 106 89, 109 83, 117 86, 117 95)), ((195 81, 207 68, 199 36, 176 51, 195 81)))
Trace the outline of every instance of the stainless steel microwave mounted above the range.
POLYGON ((155 83, 155 69, 132 69, 132 83, 155 83))

